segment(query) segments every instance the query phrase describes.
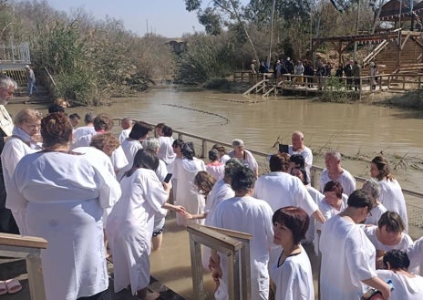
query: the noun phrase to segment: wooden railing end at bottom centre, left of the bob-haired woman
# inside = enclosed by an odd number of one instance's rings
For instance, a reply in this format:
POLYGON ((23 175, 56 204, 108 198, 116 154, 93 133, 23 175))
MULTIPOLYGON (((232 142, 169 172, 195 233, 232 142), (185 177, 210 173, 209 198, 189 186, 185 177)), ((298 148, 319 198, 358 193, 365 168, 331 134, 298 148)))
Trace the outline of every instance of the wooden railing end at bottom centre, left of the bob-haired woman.
POLYGON ((196 299, 206 299, 201 264, 201 244, 203 244, 227 257, 228 283, 226 284, 228 284, 229 299, 250 300, 250 241, 253 236, 202 225, 190 225, 187 231, 190 235, 192 287, 196 299))

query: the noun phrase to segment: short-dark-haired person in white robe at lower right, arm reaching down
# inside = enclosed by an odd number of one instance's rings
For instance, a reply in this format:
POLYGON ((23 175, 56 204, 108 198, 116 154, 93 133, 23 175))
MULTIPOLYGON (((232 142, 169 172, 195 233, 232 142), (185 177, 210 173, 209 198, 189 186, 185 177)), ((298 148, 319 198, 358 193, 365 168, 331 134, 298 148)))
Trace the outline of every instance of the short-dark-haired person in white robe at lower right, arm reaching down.
POLYGON ((388 287, 377 278, 376 250, 357 223, 366 219, 372 201, 365 191, 354 191, 344 212, 325 222, 320 237, 322 299, 358 300, 366 285, 388 295, 388 287))

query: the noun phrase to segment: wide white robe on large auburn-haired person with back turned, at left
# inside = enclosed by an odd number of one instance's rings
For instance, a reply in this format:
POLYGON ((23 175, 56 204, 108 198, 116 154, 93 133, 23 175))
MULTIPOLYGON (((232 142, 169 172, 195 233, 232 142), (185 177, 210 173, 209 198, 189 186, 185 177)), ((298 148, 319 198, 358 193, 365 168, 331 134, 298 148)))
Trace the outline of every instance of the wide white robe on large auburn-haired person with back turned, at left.
POLYGON ((48 241, 41 250, 46 300, 108 288, 101 216, 119 197, 119 182, 85 155, 37 152, 18 162, 6 207, 20 233, 48 241))

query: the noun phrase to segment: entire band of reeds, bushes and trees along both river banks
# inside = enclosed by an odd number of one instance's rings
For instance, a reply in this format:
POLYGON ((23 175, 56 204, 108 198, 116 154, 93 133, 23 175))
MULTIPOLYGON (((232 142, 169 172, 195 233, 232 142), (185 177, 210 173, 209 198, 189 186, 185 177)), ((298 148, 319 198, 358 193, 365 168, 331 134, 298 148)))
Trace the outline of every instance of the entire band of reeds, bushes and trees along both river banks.
MULTIPOLYGON (((170 39, 138 36, 120 20, 98 20, 83 9, 65 14, 36 0, 0 0, 0 42, 29 42, 36 75, 44 77, 41 70, 48 70, 57 83, 52 89, 56 98, 98 105, 162 80, 222 86, 234 70, 248 69, 253 59, 272 66, 285 57, 319 58, 310 53, 312 37, 374 30, 374 16, 385 1, 364 0, 361 7, 354 0, 184 2, 205 30, 181 36, 184 47, 178 52, 168 44, 170 39)), ((318 49, 325 62, 335 61, 329 49, 318 49)))

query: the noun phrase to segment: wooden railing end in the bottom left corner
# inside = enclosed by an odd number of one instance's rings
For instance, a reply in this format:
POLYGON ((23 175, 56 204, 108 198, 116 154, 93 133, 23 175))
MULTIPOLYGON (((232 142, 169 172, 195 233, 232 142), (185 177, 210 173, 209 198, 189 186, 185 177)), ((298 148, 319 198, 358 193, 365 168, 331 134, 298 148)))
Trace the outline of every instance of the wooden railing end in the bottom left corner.
POLYGON ((0 233, 0 256, 26 259, 31 300, 46 300, 40 253, 47 244, 40 237, 0 233))

